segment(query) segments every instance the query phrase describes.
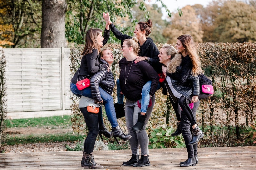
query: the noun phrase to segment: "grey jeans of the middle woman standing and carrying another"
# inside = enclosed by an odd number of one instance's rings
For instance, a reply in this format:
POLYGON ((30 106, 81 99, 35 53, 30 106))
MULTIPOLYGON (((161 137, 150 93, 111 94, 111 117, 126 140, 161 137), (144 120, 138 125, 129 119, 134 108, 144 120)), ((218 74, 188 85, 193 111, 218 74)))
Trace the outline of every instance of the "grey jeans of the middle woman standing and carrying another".
POLYGON ((130 101, 126 99, 125 102, 125 121, 128 133, 132 135, 132 138, 129 139, 132 154, 139 155, 139 147, 141 148, 141 155, 149 154, 148 151, 148 134, 146 132, 146 125, 150 118, 151 112, 155 104, 155 95, 151 97, 152 105, 147 109, 146 120, 144 126, 140 132, 133 132, 132 128, 137 123, 138 113, 141 109, 138 107, 137 101, 130 101))

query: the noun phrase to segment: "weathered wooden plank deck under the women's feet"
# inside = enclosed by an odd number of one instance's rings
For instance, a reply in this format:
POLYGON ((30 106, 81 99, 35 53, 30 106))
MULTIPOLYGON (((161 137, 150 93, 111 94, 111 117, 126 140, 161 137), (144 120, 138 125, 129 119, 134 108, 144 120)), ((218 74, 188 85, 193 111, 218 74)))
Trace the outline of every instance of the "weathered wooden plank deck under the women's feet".
MULTIPOLYGON (((150 149, 151 166, 122 166, 131 157, 130 150, 94 151, 94 159, 105 170, 256 170, 256 146, 198 148, 199 164, 179 167, 187 159, 185 148, 150 149)), ((0 154, 0 169, 6 170, 79 170, 82 152, 34 152, 0 154)))

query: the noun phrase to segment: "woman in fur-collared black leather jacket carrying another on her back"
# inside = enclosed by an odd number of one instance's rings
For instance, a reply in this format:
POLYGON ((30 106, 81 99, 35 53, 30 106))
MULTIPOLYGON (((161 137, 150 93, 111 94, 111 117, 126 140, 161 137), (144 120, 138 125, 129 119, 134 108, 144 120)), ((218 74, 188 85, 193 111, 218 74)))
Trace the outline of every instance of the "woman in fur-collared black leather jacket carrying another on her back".
POLYGON ((185 162, 181 162, 180 166, 195 166, 198 162, 197 158, 197 143, 189 145, 192 139, 190 132, 191 122, 189 117, 196 117, 196 109, 199 105, 198 96, 200 93, 199 89, 199 78, 192 74, 192 62, 189 55, 182 55, 177 53, 178 51, 170 46, 163 45, 160 50, 159 59, 160 62, 167 66, 167 76, 165 79, 165 85, 168 89, 170 100, 176 116, 179 115, 179 105, 184 101, 189 100, 194 103, 194 108, 190 109, 189 102, 181 106, 181 123, 180 128, 182 135, 185 140, 186 148, 188 151, 188 159, 185 162), (193 99, 193 100, 192 100, 193 99), (188 108, 191 112, 187 112, 188 108))

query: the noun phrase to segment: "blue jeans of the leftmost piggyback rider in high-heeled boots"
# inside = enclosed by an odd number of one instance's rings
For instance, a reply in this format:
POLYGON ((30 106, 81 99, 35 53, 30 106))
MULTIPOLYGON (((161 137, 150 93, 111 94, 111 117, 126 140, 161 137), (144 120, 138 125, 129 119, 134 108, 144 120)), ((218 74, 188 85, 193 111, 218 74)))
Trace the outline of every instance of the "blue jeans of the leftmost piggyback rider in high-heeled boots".
MULTIPOLYGON (((70 90, 75 95, 79 96, 85 96, 85 97, 92 97, 91 94, 91 88, 87 87, 83 90, 78 90, 76 85, 74 83, 70 83, 70 90)), ((109 95, 105 90, 103 90, 101 87, 99 87, 101 98, 103 100, 103 105, 105 106, 106 115, 108 117, 108 120, 112 126, 112 128, 115 128, 118 126, 117 120, 116 120, 116 114, 115 114, 115 107, 114 107, 114 99, 111 95, 109 95)))

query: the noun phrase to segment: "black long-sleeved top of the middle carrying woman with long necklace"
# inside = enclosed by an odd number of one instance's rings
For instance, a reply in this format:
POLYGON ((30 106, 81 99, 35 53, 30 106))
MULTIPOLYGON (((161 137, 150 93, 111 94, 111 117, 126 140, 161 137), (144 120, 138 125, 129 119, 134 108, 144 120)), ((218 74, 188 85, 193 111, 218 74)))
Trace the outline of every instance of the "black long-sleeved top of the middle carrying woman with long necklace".
POLYGON ((152 81, 149 94, 151 96, 155 94, 159 76, 148 62, 140 61, 135 64, 134 60, 127 61, 126 58, 122 58, 119 61, 119 67, 121 69, 119 76, 121 91, 128 100, 141 99, 142 88, 149 80, 152 81))

